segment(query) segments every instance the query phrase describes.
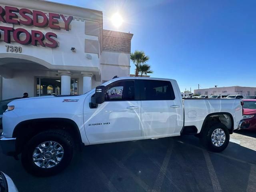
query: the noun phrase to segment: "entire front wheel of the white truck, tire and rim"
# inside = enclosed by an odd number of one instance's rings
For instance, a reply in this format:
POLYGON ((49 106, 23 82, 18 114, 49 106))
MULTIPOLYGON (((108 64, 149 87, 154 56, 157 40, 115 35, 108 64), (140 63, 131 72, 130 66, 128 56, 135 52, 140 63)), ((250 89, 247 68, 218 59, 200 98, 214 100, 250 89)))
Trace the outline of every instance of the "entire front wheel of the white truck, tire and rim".
POLYGON ((68 166, 74 153, 73 138, 63 130, 37 134, 24 146, 22 165, 35 176, 50 176, 68 166))

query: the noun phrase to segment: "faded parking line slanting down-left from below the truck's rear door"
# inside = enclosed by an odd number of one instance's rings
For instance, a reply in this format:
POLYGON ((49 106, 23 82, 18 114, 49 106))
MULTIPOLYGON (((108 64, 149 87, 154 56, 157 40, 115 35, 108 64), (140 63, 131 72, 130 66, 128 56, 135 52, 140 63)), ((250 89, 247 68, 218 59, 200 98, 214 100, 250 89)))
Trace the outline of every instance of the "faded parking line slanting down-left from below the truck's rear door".
POLYGON ((163 184, 163 181, 164 181, 164 176, 166 176, 166 170, 167 170, 167 167, 168 167, 168 164, 169 164, 169 161, 170 161, 170 157, 171 157, 171 154, 172 154, 172 148, 173 148, 172 143, 170 144, 170 147, 168 148, 168 150, 166 152, 166 155, 164 157, 164 161, 163 161, 162 166, 160 168, 160 172, 158 173, 158 176, 156 178, 156 182, 154 184, 153 191, 156 191, 156 192, 161 191, 162 184, 163 184))

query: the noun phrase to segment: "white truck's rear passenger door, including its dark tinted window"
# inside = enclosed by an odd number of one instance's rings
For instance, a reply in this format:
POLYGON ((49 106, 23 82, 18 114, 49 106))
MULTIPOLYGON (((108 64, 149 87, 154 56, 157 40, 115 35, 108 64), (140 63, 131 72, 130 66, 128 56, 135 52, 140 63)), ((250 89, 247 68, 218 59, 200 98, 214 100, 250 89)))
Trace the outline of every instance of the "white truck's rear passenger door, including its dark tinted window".
MULTIPOLYGON (((175 86, 174 86, 175 88, 175 86)), ((140 80, 142 136, 177 134, 182 129, 182 103, 172 83, 140 80)))

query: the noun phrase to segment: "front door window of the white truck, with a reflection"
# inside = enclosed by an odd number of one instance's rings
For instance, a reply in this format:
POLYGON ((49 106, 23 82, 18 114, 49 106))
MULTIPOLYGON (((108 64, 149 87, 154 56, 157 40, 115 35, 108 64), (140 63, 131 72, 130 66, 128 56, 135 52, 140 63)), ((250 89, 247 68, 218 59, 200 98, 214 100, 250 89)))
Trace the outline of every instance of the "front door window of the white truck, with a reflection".
POLYGON ((119 81, 110 84, 105 92, 106 101, 134 100, 134 81, 119 81))

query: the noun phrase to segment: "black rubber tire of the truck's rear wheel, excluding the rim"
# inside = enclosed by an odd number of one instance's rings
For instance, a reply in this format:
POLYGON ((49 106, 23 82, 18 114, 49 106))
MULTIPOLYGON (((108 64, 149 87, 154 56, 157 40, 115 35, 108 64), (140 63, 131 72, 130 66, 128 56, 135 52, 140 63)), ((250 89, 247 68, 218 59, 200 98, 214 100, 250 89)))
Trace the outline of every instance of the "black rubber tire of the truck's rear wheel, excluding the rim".
POLYGON ((212 152, 221 152, 224 149, 226 149, 229 143, 229 138, 230 138, 230 135, 229 135, 228 128, 222 123, 216 123, 206 127, 202 131, 202 135, 200 137, 202 144, 212 152), (215 146, 212 142, 212 134, 216 129, 222 129, 225 133, 226 138, 224 143, 221 146, 215 146))

